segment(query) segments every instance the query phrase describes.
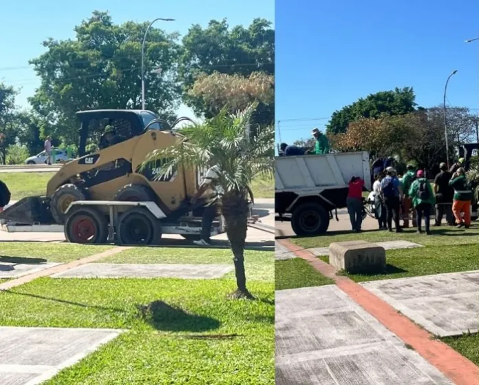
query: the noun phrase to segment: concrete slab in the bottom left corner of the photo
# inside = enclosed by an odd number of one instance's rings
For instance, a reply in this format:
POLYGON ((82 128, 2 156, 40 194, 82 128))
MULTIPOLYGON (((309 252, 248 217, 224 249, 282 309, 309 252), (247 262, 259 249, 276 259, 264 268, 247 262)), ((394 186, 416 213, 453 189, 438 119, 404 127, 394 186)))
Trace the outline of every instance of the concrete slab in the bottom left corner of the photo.
POLYGON ((41 384, 113 340, 120 332, 0 327, 0 384, 41 384))

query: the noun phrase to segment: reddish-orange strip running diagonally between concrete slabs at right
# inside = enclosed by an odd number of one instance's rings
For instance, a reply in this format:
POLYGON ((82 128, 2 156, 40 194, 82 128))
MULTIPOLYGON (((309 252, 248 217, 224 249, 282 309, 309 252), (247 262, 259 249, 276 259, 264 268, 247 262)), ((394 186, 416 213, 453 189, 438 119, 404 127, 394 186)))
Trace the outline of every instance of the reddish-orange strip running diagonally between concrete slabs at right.
POLYGON ((396 334, 405 344, 409 344, 430 364, 436 366, 447 378, 457 385, 479 385, 479 367, 466 357, 460 355, 444 342, 434 339, 434 335, 421 329, 405 315, 396 311, 390 304, 357 284, 350 278, 336 275, 336 269, 319 260, 305 249, 290 240, 277 240, 296 256, 308 261, 321 274, 332 278, 339 289, 350 296, 354 302, 368 311, 381 324, 396 334))

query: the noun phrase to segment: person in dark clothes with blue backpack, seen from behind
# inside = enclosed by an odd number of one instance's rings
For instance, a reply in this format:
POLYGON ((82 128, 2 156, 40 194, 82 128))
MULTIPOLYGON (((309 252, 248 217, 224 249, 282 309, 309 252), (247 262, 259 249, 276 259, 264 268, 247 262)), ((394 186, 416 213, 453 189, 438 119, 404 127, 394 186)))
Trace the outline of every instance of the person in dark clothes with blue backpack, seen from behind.
POLYGON ((387 229, 392 231, 392 221, 394 220, 396 233, 401 233, 403 229, 399 225, 399 207, 403 198, 403 189, 396 176, 396 170, 392 167, 387 167, 386 176, 381 180, 381 195, 387 209, 387 229))

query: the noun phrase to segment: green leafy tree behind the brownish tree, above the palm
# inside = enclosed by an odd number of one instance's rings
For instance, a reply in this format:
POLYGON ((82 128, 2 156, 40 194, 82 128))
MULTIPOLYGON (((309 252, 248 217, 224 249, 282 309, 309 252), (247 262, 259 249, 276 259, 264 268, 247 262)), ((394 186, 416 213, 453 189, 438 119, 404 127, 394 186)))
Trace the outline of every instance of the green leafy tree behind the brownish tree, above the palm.
MULTIPOLYGON (((215 116, 217 110, 211 108, 202 94, 190 92, 204 74, 219 72, 247 78, 253 72, 270 75, 275 72, 275 30, 266 19, 255 19, 247 28, 237 25, 230 29, 226 19, 212 20, 207 28, 193 25, 182 43, 179 74, 184 103, 192 107, 196 114, 206 118, 215 116)), ((273 122, 274 106, 271 106, 271 103, 260 103, 255 114, 262 111, 262 121, 273 122)), ((258 122, 260 120, 256 116, 253 119, 258 122)))

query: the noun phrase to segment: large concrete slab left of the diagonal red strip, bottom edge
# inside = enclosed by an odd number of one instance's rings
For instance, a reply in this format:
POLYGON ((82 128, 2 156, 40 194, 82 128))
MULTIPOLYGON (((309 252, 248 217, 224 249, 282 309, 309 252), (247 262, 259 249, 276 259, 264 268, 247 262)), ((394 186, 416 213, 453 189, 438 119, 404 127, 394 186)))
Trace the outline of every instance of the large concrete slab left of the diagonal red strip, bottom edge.
POLYGON ((452 383, 335 285, 276 292, 276 384, 452 383))

